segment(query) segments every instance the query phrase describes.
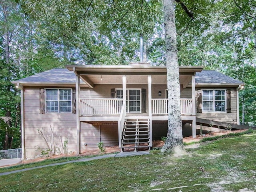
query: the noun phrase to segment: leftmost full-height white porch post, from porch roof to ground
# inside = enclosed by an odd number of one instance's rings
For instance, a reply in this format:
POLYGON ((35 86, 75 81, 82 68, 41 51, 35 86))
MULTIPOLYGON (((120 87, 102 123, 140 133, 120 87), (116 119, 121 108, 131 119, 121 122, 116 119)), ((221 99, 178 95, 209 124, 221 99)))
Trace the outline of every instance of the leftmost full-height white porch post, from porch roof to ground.
POLYGON ((76 152, 81 152, 81 128, 80 128, 80 75, 76 73, 76 69, 73 68, 76 74, 76 152))

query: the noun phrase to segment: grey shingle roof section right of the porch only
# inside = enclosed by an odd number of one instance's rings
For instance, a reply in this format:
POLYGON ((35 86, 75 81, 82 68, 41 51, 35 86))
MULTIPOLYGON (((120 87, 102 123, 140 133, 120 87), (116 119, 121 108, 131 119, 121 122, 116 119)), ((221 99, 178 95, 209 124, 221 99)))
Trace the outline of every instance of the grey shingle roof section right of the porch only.
POLYGON ((243 84, 243 82, 239 80, 214 70, 202 70, 202 72, 196 72, 195 81, 200 84, 243 84))

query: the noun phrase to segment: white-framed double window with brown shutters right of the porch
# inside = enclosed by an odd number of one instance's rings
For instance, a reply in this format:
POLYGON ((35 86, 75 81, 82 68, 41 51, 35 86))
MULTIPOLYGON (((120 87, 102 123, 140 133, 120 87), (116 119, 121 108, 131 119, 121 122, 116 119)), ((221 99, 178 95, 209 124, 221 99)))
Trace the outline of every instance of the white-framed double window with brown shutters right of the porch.
POLYGON ((226 90, 203 90, 203 112, 226 112, 226 90))

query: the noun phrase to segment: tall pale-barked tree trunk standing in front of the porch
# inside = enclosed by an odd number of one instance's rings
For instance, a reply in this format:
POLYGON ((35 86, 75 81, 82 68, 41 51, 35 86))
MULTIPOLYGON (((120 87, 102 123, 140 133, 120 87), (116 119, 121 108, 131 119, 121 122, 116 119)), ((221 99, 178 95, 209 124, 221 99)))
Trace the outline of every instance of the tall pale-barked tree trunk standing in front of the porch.
POLYGON ((163 0, 168 89, 168 132, 162 152, 183 148, 180 112, 180 77, 177 56, 174 0, 163 0))

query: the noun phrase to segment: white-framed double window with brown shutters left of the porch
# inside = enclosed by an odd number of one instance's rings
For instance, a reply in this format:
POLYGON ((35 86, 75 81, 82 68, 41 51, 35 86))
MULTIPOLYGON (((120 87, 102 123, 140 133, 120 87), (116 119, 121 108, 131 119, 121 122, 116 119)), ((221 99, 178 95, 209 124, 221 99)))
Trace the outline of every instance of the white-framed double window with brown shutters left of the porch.
POLYGON ((46 113, 72 112, 71 89, 45 89, 46 113))

